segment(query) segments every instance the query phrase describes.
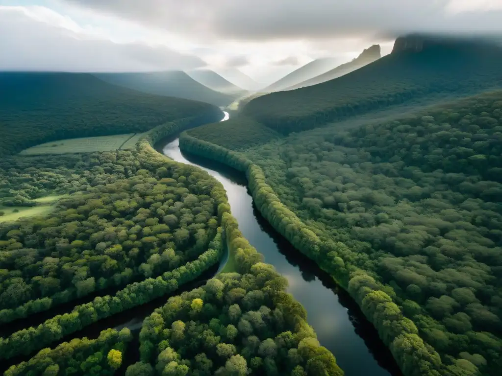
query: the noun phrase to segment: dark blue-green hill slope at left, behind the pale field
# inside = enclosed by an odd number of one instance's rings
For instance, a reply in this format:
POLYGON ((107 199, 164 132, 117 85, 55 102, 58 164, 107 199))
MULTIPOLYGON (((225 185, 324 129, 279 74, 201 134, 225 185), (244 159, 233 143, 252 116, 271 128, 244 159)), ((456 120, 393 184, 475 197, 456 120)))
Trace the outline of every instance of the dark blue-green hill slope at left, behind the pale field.
POLYGON ((0 155, 63 138, 144 132, 202 116, 207 103, 139 93, 85 73, 0 73, 0 155))

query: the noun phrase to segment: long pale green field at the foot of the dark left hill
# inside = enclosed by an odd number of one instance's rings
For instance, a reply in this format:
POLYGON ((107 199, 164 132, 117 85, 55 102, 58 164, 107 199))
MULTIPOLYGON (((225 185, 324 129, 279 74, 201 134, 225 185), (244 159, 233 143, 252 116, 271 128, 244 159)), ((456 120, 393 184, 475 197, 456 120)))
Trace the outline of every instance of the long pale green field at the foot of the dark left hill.
POLYGON ((20 155, 39 154, 65 154, 65 153, 91 153, 95 151, 113 151, 119 149, 131 149, 143 133, 117 134, 114 136, 98 136, 69 138, 46 142, 40 145, 22 150, 20 155))

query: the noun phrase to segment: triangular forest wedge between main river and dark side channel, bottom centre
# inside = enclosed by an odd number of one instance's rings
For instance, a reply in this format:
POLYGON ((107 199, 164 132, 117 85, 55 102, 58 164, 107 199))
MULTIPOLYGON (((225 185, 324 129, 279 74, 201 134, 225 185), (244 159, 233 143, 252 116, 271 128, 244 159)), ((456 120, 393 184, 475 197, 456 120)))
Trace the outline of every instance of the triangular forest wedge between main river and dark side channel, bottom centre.
POLYGON ((287 280, 263 263, 229 213, 223 223, 236 272, 169 298, 148 317, 141 362, 126 374, 343 375, 307 324, 305 309, 285 292, 287 280))

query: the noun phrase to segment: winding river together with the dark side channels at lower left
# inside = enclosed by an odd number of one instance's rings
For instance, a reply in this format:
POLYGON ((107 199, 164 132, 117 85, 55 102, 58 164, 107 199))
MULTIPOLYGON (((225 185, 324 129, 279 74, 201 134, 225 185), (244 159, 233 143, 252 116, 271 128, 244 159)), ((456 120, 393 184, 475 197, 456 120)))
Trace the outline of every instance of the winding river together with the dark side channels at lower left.
MULTIPOLYGON (((227 112, 224 114, 221 121, 229 118, 227 112)), ((317 332, 319 341, 335 355, 337 363, 345 371, 346 376, 402 375, 390 351, 348 294, 314 262, 295 250, 261 216, 253 204, 253 198, 247 190, 247 181, 242 173, 221 163, 182 153, 178 136, 159 142, 156 149, 178 162, 203 168, 223 184, 232 214, 237 219, 242 234, 265 256, 267 263, 274 265, 277 271, 288 279, 288 291, 303 304, 307 310, 308 322, 317 332)), ((183 291, 202 285, 208 278, 217 274, 223 264, 224 260, 219 266, 215 265, 206 271, 197 281, 183 285, 169 296, 179 295, 183 291)), ((104 293, 114 293, 114 291, 100 291, 96 295, 104 293)), ((84 336, 97 338, 101 330, 109 327, 116 329, 129 327, 134 334, 134 340, 118 370, 118 374, 124 374, 128 365, 139 360, 138 334, 143 320, 155 308, 164 305, 169 296, 157 298, 145 305, 99 320, 76 333, 61 338, 50 347, 54 348, 59 343, 72 338, 84 336)), ((79 303, 91 301, 93 297, 87 296, 79 303)), ((70 305, 74 304, 75 302, 72 302, 70 305)), ((0 326, 0 335, 9 335, 22 327, 37 326, 46 318, 70 310, 70 306, 62 305, 39 315, 14 321, 3 327, 0 326)), ((0 361, 0 374, 10 365, 27 361, 33 355, 35 353, 0 361)))

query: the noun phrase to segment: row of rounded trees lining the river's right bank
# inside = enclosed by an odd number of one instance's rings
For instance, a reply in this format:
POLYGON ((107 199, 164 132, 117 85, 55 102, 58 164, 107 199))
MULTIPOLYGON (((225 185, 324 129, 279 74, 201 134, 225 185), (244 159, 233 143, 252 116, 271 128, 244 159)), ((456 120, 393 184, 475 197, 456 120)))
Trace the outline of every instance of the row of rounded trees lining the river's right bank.
POLYGON ((180 137, 180 147, 183 151, 224 163, 245 173, 249 190, 262 215, 294 248, 314 260, 350 294, 389 347, 405 375, 419 376, 443 368, 439 355, 418 335, 415 324, 404 317, 401 309, 385 292, 385 286, 351 266, 349 260, 344 259, 344 245, 322 241, 283 205, 266 183, 265 175, 258 165, 242 153, 196 139, 186 132, 180 137), (328 253, 333 256, 330 263, 323 260, 328 253))

